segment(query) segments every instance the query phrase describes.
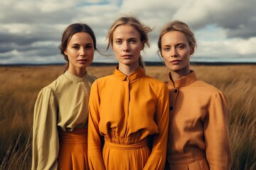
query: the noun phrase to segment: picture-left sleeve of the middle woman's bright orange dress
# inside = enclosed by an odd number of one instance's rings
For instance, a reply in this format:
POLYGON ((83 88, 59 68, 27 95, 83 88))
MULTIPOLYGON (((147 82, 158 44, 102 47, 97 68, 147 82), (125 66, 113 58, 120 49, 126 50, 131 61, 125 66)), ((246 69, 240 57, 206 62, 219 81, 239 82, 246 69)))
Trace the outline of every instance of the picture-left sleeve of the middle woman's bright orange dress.
POLYGON ((105 165, 102 159, 100 140, 100 96, 97 80, 92 84, 89 99, 88 118, 88 163, 90 169, 102 170, 105 165))

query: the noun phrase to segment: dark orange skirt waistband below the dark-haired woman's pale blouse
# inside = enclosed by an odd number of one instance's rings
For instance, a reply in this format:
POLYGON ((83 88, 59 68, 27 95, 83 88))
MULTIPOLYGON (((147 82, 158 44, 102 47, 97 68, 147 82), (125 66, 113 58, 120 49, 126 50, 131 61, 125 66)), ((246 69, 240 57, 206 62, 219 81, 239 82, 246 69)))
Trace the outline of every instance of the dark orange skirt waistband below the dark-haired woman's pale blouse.
POLYGON ((65 143, 87 142, 87 128, 74 129, 72 132, 60 130, 59 140, 65 143))

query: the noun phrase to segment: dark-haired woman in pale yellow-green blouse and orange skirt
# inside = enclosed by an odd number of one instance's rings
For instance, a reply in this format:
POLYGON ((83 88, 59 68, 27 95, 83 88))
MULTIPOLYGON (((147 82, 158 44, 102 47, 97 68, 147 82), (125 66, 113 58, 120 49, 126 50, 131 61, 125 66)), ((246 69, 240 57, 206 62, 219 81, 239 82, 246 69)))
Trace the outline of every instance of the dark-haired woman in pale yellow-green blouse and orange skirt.
POLYGON ((83 23, 65 29, 60 52, 68 70, 38 94, 33 117, 32 169, 89 169, 87 73, 96 48, 95 34, 83 23))

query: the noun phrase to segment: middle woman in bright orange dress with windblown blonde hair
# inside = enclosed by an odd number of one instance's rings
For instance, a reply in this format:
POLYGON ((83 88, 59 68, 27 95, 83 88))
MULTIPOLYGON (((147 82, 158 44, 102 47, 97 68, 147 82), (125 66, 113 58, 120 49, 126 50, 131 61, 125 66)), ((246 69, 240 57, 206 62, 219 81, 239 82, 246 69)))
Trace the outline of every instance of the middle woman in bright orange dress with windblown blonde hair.
POLYGON ((151 29, 121 17, 107 35, 119 62, 114 74, 92 84, 89 101, 90 169, 164 169, 169 123, 168 88, 147 76, 140 52, 151 29), (152 150, 147 140, 154 135, 152 150), (101 137, 104 146, 101 149, 101 137))

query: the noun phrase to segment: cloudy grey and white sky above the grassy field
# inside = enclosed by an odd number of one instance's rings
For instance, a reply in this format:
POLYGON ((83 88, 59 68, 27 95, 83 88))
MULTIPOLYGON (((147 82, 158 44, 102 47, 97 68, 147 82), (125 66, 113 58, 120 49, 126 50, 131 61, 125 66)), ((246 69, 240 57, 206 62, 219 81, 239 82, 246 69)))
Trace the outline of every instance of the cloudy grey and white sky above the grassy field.
MULTIPOLYGON (((255 0, 8 0, 0 2, 0 64, 62 63, 58 45, 71 23, 87 23, 104 51, 115 19, 137 16, 154 28, 145 61, 157 55, 159 30, 180 20, 193 29, 198 48, 194 62, 256 62, 255 0)), ((114 62, 95 52, 94 62, 114 62)))

